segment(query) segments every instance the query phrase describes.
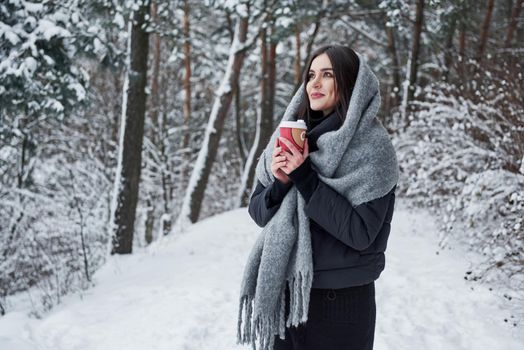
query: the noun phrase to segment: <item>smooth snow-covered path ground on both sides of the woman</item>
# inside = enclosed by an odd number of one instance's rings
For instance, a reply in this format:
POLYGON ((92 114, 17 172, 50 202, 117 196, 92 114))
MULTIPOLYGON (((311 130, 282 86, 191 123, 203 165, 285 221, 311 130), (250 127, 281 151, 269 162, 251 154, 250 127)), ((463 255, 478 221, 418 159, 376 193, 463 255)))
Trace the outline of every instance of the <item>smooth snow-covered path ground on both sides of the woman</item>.
MULTIPOLYGON (((235 343, 237 299, 259 232, 242 208, 112 257, 95 288, 68 296, 43 319, 24 308, 1 317, 0 349, 250 349, 235 343)), ((514 321, 513 306, 463 279, 470 254, 436 251, 431 216, 397 210, 376 281, 375 349, 524 349, 522 325, 504 322, 514 321)))

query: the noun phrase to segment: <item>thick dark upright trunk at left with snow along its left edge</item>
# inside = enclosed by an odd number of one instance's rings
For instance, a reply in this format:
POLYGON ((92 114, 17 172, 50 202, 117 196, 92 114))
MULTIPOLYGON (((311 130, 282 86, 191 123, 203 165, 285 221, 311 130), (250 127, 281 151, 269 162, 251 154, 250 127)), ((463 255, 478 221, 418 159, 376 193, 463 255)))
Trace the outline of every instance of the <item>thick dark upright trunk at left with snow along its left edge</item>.
POLYGON ((149 34, 143 29, 150 2, 144 1, 129 23, 128 66, 120 125, 118 167, 113 198, 112 254, 133 251, 133 230, 138 201, 144 115, 146 109, 149 34))

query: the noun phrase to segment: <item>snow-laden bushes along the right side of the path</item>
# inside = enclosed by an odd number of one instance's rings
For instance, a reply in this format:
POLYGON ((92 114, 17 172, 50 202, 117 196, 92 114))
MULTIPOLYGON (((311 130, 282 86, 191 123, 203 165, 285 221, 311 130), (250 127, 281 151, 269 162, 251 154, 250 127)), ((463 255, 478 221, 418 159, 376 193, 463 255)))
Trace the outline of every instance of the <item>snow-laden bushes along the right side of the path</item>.
POLYGON ((524 80, 509 72, 492 69, 472 94, 447 83, 426 87, 395 146, 400 194, 441 217, 441 247, 453 238, 486 256, 466 277, 521 288, 524 80))

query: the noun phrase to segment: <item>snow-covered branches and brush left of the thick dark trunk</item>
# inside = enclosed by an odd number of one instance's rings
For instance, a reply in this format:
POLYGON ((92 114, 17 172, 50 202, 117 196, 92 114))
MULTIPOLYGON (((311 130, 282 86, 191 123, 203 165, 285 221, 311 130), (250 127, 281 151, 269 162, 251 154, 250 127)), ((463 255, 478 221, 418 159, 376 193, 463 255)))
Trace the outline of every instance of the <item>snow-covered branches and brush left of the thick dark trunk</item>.
POLYGON ((105 130, 79 114, 91 97, 83 59, 112 53, 83 5, 0 4, 0 298, 31 288, 36 314, 105 260, 107 197, 93 190, 109 184, 93 156, 105 130))

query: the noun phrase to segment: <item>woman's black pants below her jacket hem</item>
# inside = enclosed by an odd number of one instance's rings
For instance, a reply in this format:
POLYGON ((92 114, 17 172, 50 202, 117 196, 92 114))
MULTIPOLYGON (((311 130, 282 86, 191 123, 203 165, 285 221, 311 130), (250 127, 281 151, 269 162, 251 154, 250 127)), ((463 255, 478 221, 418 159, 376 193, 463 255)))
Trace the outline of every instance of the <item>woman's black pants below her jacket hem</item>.
MULTIPOLYGON (((286 320, 289 289, 286 288, 286 320)), ((311 289, 308 321, 275 336, 274 350, 372 350, 375 283, 343 289, 311 289)))

